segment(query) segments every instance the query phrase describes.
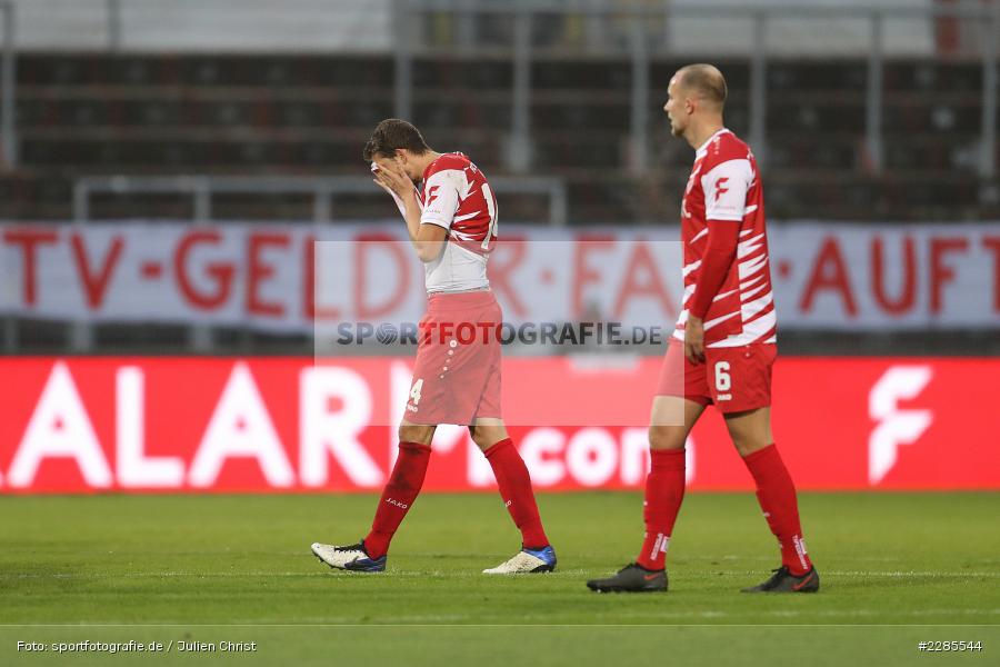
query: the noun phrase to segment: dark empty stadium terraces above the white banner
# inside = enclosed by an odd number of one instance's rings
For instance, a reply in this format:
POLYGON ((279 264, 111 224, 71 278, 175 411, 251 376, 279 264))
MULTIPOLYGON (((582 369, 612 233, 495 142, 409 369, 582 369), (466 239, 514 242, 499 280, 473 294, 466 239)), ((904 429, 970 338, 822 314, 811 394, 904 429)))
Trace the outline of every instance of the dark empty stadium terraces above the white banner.
MULTIPOLYGON (((656 60, 653 96, 680 61, 656 60)), ((722 62, 728 123, 748 126, 749 62, 722 62)), ((510 58, 418 58, 413 117, 432 146, 463 150, 506 172, 510 58)), ((888 61, 883 175, 864 149, 861 60, 771 60, 767 133, 769 208, 776 218, 987 219, 997 185, 978 180, 981 66, 961 59, 888 61)), ((630 63, 623 58, 532 62, 532 172, 564 177, 569 219, 661 222, 673 218, 689 150, 650 113, 648 173, 629 161, 630 63)), ((357 175, 373 119, 393 115, 391 58, 214 54, 22 53, 17 112, 21 163, 0 179, 0 218, 67 219, 71 183, 84 175, 357 175)), ((659 99, 653 99, 659 106, 659 99)), ((341 216, 379 215, 348 199, 341 216)), ((227 197, 219 218, 308 219, 306 198, 227 197)), ((96 201, 92 216, 186 217, 181 197, 96 201)), ((539 218, 513 202, 510 213, 539 218)))

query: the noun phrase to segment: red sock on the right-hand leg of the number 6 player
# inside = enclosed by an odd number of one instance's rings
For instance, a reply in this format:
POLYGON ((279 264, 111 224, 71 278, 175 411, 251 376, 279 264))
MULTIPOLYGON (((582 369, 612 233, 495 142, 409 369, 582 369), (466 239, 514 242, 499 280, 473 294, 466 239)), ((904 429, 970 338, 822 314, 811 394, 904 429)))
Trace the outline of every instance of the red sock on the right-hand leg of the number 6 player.
POLYGON ((797 577, 804 575, 812 568, 812 563, 806 554, 806 542, 802 541, 796 485, 778 448, 772 442, 744 457, 743 461, 757 482, 757 500, 768 526, 781 545, 781 564, 797 577))

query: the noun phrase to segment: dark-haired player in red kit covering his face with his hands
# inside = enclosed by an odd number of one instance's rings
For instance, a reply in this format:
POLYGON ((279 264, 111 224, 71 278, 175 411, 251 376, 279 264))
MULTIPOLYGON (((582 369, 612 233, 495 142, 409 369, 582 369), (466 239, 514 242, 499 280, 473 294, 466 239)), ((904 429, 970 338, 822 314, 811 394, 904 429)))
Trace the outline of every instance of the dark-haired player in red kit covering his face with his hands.
POLYGON ((521 550, 484 574, 547 573, 556 552, 542 528, 528 468, 500 416, 500 306, 487 261, 497 242, 497 201, 482 171, 459 152, 428 148, 409 122, 383 120, 364 147, 374 182, 389 192, 424 266, 428 309, 399 427, 399 457, 358 544, 313 544, 312 552, 349 571, 386 569, 389 542, 413 506, 439 424, 468 426, 493 468, 500 496, 521 531, 521 550), (418 187, 419 183, 419 187, 418 187))

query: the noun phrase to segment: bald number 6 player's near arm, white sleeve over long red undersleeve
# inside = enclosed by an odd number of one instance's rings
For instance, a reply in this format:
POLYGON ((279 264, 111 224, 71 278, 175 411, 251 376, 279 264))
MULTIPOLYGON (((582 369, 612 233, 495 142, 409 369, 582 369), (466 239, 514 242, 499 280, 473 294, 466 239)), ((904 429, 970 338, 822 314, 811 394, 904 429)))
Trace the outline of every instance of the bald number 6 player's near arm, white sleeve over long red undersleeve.
POLYGON ((692 364, 704 361, 704 316, 736 260, 752 178, 749 160, 729 160, 701 179, 708 236, 684 323, 684 356, 692 364))

